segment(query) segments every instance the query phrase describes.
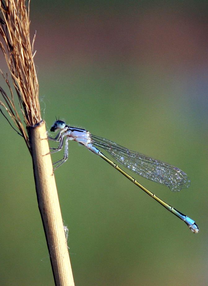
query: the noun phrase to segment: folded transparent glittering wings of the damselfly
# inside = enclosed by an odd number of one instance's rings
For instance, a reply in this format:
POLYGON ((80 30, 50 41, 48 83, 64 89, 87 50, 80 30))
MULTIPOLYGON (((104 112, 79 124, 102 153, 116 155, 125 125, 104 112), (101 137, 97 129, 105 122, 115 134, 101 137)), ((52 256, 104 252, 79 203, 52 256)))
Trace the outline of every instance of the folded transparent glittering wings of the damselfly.
POLYGON ((166 185, 171 191, 180 191, 190 186, 187 174, 177 167, 131 151, 108 139, 92 134, 91 138, 93 145, 103 148, 121 165, 144 178, 166 185))

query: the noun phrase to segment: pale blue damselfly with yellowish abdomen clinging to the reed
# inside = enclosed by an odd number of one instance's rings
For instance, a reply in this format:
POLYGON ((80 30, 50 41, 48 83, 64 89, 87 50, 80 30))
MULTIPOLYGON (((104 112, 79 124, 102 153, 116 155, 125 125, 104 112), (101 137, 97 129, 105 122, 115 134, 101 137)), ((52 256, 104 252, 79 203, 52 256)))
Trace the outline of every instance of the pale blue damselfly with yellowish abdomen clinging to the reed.
POLYGON ((170 188, 171 191, 180 191, 181 189, 188 188, 190 180, 182 170, 173 165, 165 162, 156 160, 152 157, 146 156, 139 152, 131 151, 113 141, 104 139, 102 137, 95 136, 89 131, 81 128, 71 127, 66 125, 64 121, 56 120, 51 126, 51 132, 59 130, 55 138, 48 137, 48 139, 59 142, 57 148, 51 147, 51 152, 58 152, 62 149, 64 142, 64 157, 59 161, 53 163, 54 170, 57 169, 68 159, 68 141, 74 140, 81 145, 84 145, 91 152, 100 156, 106 162, 108 162, 113 168, 117 169, 122 175, 128 178, 137 187, 142 189, 145 193, 151 196, 154 200, 160 203, 163 207, 173 213, 175 216, 184 221, 193 233, 198 233, 199 228, 193 219, 187 215, 179 212, 177 209, 165 203, 163 200, 158 198, 151 191, 143 187, 135 178, 127 174, 117 164, 108 159, 99 149, 107 151, 118 163, 131 170, 135 174, 138 174, 144 178, 147 178, 156 183, 163 184, 170 188))

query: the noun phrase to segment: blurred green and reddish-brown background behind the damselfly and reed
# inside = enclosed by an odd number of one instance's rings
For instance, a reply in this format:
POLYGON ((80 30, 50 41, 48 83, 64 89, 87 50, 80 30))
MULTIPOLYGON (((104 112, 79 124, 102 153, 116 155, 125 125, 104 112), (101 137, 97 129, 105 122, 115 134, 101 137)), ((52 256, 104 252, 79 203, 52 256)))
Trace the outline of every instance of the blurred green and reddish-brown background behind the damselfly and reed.
MULTIPOLYGON (((179 193, 145 187, 71 142, 55 172, 75 284, 207 285, 207 1, 31 1, 47 129, 72 126, 178 166, 179 193)), ((1 68, 7 71, 1 55, 1 68)), ((0 79, 3 85, 2 79, 0 79)), ((1 116, 0 285, 53 285, 24 141, 1 116)), ((53 161, 62 156, 52 156, 53 161)))

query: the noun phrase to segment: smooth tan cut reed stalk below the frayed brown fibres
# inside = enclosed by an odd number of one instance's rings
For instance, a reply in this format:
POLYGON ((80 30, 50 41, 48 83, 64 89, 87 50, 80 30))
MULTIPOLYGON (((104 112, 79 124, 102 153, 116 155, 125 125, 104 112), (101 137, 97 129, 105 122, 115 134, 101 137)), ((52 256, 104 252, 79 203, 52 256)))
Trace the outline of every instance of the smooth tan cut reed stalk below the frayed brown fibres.
POLYGON ((49 153, 45 122, 29 128, 38 207, 46 234, 56 285, 73 286, 67 241, 49 153), (44 156, 45 155, 45 156, 44 156))

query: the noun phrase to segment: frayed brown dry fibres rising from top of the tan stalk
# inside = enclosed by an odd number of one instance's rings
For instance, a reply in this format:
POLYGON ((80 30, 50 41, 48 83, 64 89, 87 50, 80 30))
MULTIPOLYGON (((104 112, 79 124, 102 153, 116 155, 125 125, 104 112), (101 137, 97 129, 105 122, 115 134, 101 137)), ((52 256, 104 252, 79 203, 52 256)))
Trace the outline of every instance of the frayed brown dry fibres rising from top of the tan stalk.
POLYGON ((19 108, 26 126, 34 126, 41 121, 38 79, 33 62, 35 36, 32 46, 29 39, 29 3, 27 5, 25 0, 0 0, 0 11, 0 34, 2 36, 0 48, 11 73, 19 107, 15 107, 8 76, 4 76, 2 71, 1 74, 8 86, 10 95, 0 87, 0 92, 5 101, 4 103, 0 100, 0 105, 6 109, 29 147, 24 124, 18 115, 19 108))

